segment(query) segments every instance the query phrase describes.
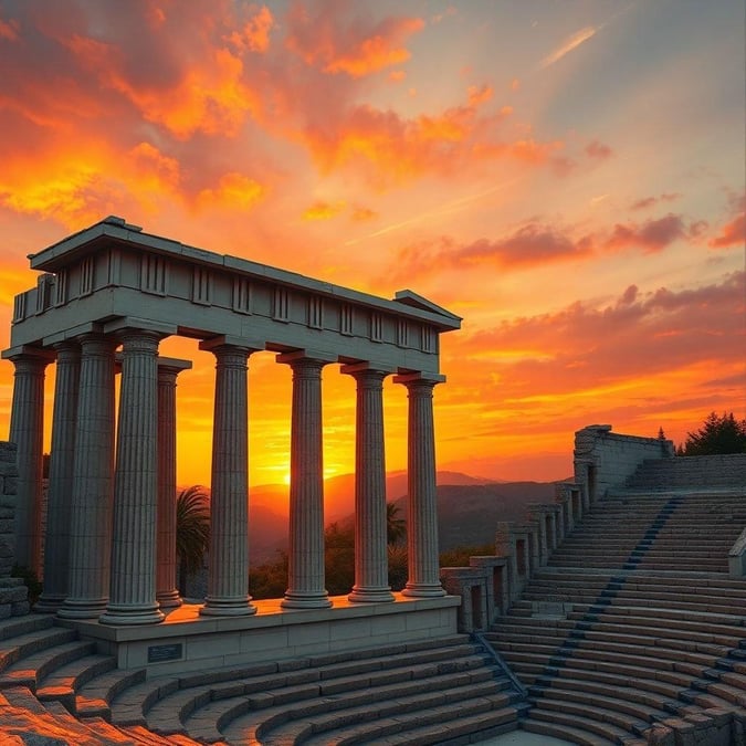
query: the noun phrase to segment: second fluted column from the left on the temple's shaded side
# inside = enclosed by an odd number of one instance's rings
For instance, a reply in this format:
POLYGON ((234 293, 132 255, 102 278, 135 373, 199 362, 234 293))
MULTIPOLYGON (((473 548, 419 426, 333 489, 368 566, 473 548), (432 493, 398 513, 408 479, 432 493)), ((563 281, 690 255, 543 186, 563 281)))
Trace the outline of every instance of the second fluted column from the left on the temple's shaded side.
POLYGON ((44 544, 44 592, 35 611, 55 612, 67 596, 70 563, 70 512, 75 461, 77 390, 81 378, 81 346, 76 342, 55 345, 52 450, 46 492, 46 542, 44 544))

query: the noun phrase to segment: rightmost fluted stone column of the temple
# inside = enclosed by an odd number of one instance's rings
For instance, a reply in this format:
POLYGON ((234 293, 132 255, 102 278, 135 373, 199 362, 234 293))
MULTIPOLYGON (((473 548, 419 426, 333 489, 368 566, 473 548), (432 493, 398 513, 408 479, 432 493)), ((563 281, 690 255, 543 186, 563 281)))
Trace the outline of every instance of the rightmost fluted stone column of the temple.
POLYGON ((408 556, 404 596, 444 596, 438 564, 438 495, 432 389, 444 376, 397 376, 408 390, 408 556))

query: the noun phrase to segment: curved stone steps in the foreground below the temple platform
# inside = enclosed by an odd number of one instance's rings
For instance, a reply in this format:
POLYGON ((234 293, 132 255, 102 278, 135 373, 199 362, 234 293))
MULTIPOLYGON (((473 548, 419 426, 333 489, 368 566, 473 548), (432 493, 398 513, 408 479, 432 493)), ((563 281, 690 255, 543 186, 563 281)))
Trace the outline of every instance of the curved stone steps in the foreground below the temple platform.
POLYGON ((0 621, 0 742, 456 744, 515 729, 519 712, 466 635, 146 679, 51 617, 0 621))

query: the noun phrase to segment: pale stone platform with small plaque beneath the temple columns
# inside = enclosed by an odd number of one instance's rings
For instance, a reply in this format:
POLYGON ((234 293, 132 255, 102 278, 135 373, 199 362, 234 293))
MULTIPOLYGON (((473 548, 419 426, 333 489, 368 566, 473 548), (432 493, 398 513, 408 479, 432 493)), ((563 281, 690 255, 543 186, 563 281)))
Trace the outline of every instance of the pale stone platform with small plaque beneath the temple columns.
POLYGON ((149 676, 222 665, 254 664, 345 652, 456 633, 456 596, 393 602, 351 602, 333 597, 328 609, 283 609, 281 599, 252 601, 246 617, 201 617, 202 605, 185 603, 159 624, 112 626, 57 620, 76 629, 119 669, 146 668, 149 676))

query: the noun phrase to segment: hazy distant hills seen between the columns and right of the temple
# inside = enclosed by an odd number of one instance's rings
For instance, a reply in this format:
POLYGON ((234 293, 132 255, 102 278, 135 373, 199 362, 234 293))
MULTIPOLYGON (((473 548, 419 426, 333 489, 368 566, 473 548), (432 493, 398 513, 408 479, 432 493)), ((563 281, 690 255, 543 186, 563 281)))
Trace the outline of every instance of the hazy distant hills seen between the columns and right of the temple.
MULTIPOLYGON (((554 482, 494 482, 461 472, 438 472, 438 518, 441 550, 492 543, 498 521, 522 521, 528 503, 550 501, 554 482)), ((407 473, 387 477, 387 500, 407 516, 407 473)), ((276 558, 287 547, 287 485, 252 487, 249 501, 249 550, 253 564, 276 558)), ((324 517, 328 525, 355 512, 355 475, 325 483, 324 517)))

